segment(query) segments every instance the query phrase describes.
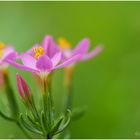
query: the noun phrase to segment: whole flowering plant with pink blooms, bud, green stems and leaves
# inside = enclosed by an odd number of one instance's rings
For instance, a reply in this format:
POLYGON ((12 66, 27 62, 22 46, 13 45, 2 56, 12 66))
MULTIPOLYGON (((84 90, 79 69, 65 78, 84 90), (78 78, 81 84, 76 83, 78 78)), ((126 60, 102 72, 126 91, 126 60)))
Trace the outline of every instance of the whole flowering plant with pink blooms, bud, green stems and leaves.
MULTIPOLYGON (((16 118, 13 118, 15 116, 8 118, 2 112, 0 112, 0 114, 9 120, 17 122, 22 130, 27 129, 41 135, 43 138, 53 138, 55 135, 63 132, 68 126, 70 119, 74 116, 72 114, 70 97, 72 94, 70 92, 72 88, 71 78, 73 68, 77 62, 93 58, 103 49, 102 45, 99 45, 91 52, 88 52, 89 46, 90 41, 88 38, 84 38, 75 48, 72 48, 66 39, 60 38, 58 43, 56 43, 52 36, 47 35, 42 43, 37 43, 28 51, 18 54, 12 46, 4 45, 0 42, 0 84, 6 81, 7 92, 13 93, 7 78, 8 76, 3 76, 3 72, 1 72, 1 70, 3 71, 7 68, 8 64, 22 71, 29 71, 39 76, 43 83, 42 102, 44 105, 41 112, 37 110, 31 89, 26 81, 19 74, 16 74, 19 94, 26 104, 26 107, 31 111, 29 114, 26 114, 28 122, 25 121, 23 114, 21 114, 20 111, 16 111, 16 118), (68 94, 66 95, 64 114, 62 113, 63 115, 58 119, 55 117, 54 113, 53 98, 50 90, 50 75, 59 68, 65 69, 65 83, 67 85, 68 94)), ((8 95, 8 99, 14 107, 14 109, 12 108, 11 110, 18 110, 14 96, 8 95)), ((13 114, 15 114, 15 112, 13 112, 13 114)), ((26 133, 25 130, 24 132, 26 133)))

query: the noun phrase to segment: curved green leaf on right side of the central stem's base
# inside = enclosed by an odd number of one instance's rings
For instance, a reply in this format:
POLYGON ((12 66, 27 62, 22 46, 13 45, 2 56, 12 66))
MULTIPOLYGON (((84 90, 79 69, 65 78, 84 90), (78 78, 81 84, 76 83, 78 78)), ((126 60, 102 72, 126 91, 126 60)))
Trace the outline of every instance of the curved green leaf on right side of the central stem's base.
POLYGON ((57 134, 61 133, 62 131, 64 131, 64 129, 66 129, 68 127, 70 120, 71 120, 71 111, 67 110, 64 124, 55 132, 54 135, 57 135, 57 134))

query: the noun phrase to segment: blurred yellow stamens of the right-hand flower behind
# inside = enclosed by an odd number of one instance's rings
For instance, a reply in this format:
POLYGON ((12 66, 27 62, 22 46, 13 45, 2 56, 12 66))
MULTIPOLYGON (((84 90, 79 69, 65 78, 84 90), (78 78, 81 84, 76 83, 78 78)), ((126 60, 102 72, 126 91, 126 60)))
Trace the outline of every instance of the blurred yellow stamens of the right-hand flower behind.
POLYGON ((71 48, 70 43, 65 38, 60 38, 58 40, 59 46, 61 49, 69 49, 71 48))

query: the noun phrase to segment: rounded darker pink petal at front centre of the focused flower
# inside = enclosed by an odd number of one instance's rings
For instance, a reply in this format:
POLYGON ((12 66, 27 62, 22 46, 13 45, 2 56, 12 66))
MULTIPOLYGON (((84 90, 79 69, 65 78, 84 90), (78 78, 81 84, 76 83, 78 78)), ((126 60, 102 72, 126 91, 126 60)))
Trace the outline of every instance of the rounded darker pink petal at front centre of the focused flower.
POLYGON ((53 68, 53 64, 47 55, 42 55, 38 58, 36 67, 41 71, 50 71, 53 68))

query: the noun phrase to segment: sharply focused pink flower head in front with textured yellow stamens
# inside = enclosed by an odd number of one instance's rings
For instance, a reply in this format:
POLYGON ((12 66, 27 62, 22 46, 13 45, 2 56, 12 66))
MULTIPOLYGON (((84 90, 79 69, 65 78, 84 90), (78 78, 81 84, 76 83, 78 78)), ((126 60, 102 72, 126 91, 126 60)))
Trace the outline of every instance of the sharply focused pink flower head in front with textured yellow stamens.
POLYGON ((49 74, 54 69, 75 63, 80 57, 81 54, 75 52, 74 55, 62 62, 62 53, 59 47, 51 36, 46 36, 41 45, 35 44, 30 50, 19 56, 22 64, 17 63, 13 59, 6 59, 6 61, 24 71, 49 74))

